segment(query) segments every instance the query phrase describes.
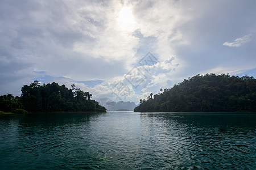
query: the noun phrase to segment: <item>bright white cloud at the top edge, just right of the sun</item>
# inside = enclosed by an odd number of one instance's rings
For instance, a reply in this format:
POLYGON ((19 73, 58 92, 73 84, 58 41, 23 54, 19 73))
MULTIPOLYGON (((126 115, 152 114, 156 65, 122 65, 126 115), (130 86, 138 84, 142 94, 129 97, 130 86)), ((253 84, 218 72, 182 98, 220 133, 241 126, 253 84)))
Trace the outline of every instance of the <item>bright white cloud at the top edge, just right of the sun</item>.
POLYGON ((142 1, 135 6, 137 28, 144 37, 156 37, 153 53, 160 59, 175 54, 175 46, 188 44, 180 27, 191 20, 182 1, 142 1))

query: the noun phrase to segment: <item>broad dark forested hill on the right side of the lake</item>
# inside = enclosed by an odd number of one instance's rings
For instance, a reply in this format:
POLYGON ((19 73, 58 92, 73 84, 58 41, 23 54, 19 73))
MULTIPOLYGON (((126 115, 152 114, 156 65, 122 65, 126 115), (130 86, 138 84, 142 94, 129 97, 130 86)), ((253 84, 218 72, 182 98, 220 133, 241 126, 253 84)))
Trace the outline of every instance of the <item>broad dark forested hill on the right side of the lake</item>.
POLYGON ((256 112, 256 80, 229 74, 196 75, 164 89, 135 112, 256 112))

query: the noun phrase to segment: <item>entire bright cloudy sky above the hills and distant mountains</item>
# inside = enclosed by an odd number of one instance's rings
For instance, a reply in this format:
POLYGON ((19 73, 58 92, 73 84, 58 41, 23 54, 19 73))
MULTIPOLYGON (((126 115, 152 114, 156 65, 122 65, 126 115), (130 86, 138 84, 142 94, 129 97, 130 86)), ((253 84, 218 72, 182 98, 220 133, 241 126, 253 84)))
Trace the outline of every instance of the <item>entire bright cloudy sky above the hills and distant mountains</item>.
POLYGON ((101 101, 197 74, 256 76, 256 1, 0 1, 0 95, 39 80, 101 101))

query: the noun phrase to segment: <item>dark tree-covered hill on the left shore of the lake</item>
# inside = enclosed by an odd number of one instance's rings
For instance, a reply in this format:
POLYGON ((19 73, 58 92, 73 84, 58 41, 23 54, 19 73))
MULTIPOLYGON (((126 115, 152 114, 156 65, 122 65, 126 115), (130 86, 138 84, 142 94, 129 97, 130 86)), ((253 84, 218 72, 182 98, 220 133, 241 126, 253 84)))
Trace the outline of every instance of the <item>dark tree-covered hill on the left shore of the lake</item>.
POLYGON ((13 95, 0 96, 0 111, 15 112, 22 109, 28 112, 105 112, 106 108, 91 100, 92 94, 84 92, 72 85, 68 89, 65 85, 53 82, 40 85, 35 80, 29 86, 24 85, 20 97, 13 95))

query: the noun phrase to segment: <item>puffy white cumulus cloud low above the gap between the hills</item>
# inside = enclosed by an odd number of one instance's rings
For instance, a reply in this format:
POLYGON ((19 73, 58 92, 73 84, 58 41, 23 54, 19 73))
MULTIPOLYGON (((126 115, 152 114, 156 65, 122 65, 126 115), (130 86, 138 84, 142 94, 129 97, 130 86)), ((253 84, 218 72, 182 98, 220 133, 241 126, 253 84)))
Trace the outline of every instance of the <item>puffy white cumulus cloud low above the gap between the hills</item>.
POLYGON ((174 63, 174 60, 175 57, 168 57, 163 62, 148 66, 149 69, 147 68, 147 70, 143 66, 134 67, 133 70, 122 77, 107 80, 94 86, 91 91, 98 94, 94 96, 97 100, 108 97, 112 101, 138 102, 139 99, 145 99, 144 96, 148 96, 150 92, 156 94, 160 88, 170 86, 167 81, 172 79, 172 74, 179 65, 174 63), (141 91, 138 92, 138 89, 141 89, 141 91))

